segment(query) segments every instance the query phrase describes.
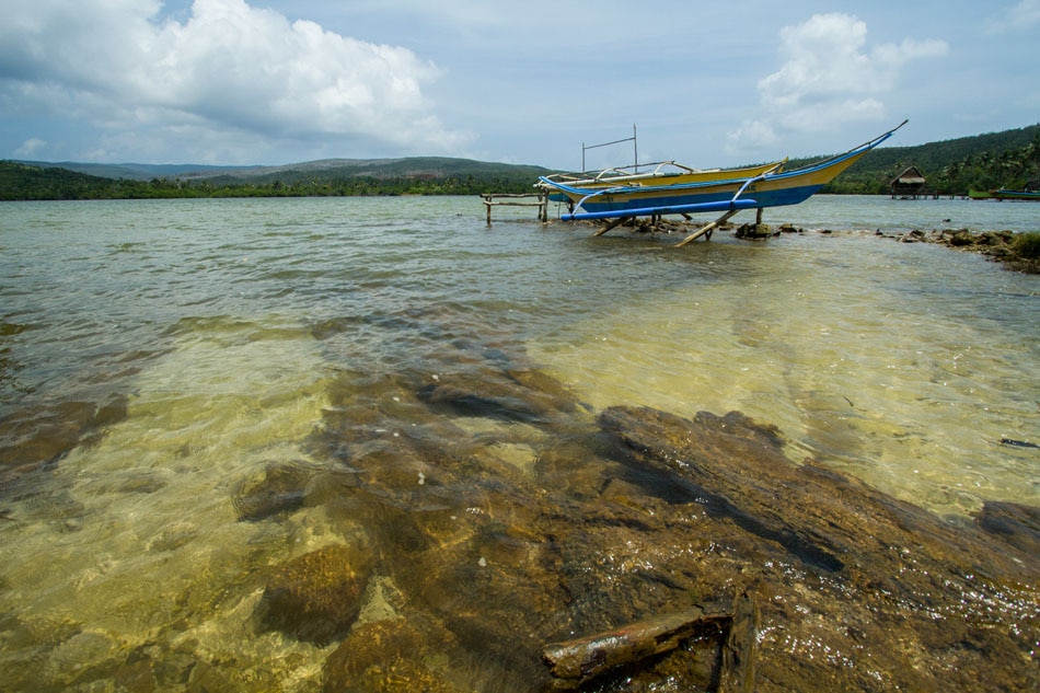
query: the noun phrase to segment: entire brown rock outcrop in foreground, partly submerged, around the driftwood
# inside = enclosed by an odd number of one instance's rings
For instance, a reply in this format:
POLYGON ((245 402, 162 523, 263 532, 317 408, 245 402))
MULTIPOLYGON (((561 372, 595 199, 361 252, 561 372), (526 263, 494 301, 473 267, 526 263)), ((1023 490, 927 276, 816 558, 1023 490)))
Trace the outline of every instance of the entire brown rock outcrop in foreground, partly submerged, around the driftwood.
MULTIPOLYGON (((739 413, 590 420, 522 361, 448 355, 344 379, 312 438, 353 480, 325 503, 365 524, 407 619, 340 632, 326 690, 539 690, 547 643, 737 594, 755 605, 753 690, 1040 683, 1040 565, 1006 535, 794 463, 739 413)), ((725 639, 702 633, 587 690, 732 690, 725 639)))

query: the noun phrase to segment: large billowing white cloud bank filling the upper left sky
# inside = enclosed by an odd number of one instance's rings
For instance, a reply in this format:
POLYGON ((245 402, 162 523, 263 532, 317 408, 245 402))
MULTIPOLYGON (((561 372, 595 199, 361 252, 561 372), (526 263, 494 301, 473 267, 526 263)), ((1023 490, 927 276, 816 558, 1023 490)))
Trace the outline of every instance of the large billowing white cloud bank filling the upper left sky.
POLYGON ((441 70, 407 48, 290 23, 245 0, 195 0, 183 23, 158 23, 160 9, 157 0, 19 3, 0 27, 3 97, 18 92, 51 114, 76 108, 116 149, 124 131, 189 148, 226 141, 226 157, 231 147, 255 157, 273 141, 338 143, 343 155, 348 141, 453 153, 471 139, 437 118, 423 85, 441 70))

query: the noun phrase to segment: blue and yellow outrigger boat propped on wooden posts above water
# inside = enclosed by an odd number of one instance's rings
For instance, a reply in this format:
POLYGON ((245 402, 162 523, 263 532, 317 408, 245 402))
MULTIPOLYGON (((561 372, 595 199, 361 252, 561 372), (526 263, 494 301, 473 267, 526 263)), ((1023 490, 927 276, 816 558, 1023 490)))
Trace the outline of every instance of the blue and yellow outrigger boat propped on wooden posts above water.
POLYGON ((754 166, 712 172, 687 170, 685 175, 690 177, 685 181, 652 173, 644 174, 644 177, 608 175, 603 177, 612 183, 608 185, 593 183, 596 176, 573 182, 565 182, 559 176, 541 176, 535 186, 551 197, 562 196, 558 198, 567 201, 569 212, 561 216, 564 221, 609 220, 596 235, 602 235, 633 217, 724 212, 678 243, 685 245, 701 235, 710 234, 715 227, 743 209, 804 203, 906 123, 903 120, 888 132, 845 153, 795 171, 784 171, 784 160, 765 164, 763 170, 754 166), (708 175, 697 177, 705 173, 708 175))

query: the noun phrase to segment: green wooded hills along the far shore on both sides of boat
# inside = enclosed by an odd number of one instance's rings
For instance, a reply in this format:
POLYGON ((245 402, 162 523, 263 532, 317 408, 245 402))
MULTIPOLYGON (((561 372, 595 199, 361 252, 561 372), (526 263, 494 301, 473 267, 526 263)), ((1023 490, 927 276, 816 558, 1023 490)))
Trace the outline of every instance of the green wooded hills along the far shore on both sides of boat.
MULTIPOLYGON (((795 159, 787 170, 820 159, 795 159)), ((891 181, 911 165, 925 176, 926 193, 931 194, 967 195, 969 189, 996 187, 1037 189, 1040 125, 918 147, 876 149, 823 192, 887 195, 891 181)), ((0 161, 0 200, 530 193, 538 176, 548 172, 540 166, 438 157, 338 159, 267 168, 0 161)))

